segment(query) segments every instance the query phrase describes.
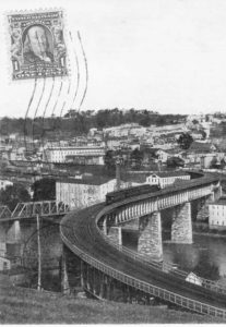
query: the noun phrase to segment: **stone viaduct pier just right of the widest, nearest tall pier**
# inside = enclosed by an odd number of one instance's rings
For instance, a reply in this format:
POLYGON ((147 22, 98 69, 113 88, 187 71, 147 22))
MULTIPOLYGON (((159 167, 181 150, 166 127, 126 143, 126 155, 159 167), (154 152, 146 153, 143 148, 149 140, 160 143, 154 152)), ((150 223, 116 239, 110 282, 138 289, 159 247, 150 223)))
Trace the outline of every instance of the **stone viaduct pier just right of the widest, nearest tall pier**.
POLYGON ((175 207, 173 213, 171 241, 192 244, 191 203, 187 202, 175 207))

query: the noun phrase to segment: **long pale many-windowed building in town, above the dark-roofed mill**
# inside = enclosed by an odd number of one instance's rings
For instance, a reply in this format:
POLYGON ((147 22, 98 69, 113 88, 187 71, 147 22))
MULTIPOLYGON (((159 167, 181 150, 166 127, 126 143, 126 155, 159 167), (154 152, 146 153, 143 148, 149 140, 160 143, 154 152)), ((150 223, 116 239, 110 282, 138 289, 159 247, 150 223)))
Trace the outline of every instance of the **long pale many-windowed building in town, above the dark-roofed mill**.
POLYGON ((47 161, 50 162, 67 162, 68 159, 73 157, 75 158, 81 157, 82 160, 87 158, 94 158, 94 161, 102 162, 98 165, 104 165, 104 156, 105 156, 105 148, 99 146, 67 146, 67 147, 49 147, 46 149, 45 155, 47 157, 47 161))

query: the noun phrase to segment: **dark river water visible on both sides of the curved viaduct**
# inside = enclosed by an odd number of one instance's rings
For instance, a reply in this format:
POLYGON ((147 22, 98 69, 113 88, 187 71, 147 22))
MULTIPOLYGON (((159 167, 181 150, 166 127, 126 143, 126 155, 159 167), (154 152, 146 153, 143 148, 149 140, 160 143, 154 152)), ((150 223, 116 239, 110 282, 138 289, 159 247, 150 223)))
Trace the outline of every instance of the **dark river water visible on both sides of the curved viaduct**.
MULTIPOLYGON (((22 257, 23 264, 32 270, 26 275, 26 286, 37 286, 37 234, 36 225, 22 225, 22 257), (33 234, 33 237, 31 237, 33 234), (25 244, 25 246, 24 246, 25 244)), ((138 231, 122 231, 122 244, 136 251, 138 231)), ((173 244, 167 241, 167 233, 163 234, 164 261, 176 264, 178 268, 198 274, 209 279, 222 279, 226 282, 226 238, 193 235, 193 244, 173 244), (201 267, 201 270, 199 271, 201 267), (199 268, 199 269, 198 269, 199 268), (195 270, 198 269, 198 270, 195 270), (225 277, 225 278, 224 278, 225 277)), ((59 226, 41 223, 41 267, 43 287, 47 290, 60 291, 59 259, 62 243, 59 235, 59 226)))

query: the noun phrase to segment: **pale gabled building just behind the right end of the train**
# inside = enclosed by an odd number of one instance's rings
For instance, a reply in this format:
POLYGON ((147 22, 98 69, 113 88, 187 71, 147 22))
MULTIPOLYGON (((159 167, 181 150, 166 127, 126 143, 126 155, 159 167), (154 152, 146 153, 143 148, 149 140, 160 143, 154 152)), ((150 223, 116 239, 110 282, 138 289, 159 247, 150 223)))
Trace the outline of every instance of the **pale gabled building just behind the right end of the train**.
POLYGON ((160 189, 175 183, 176 180, 190 180, 190 174, 185 171, 162 171, 146 177, 146 184, 158 185, 160 189))

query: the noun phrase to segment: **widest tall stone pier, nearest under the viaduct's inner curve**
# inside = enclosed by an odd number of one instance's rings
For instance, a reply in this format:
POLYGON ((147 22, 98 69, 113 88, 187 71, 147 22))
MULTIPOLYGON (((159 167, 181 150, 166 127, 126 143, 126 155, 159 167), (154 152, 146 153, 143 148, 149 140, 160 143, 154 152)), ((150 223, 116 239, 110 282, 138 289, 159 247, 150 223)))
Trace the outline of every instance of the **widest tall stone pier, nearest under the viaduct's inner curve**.
POLYGON ((140 218, 138 252, 151 261, 163 261, 160 213, 140 218))

